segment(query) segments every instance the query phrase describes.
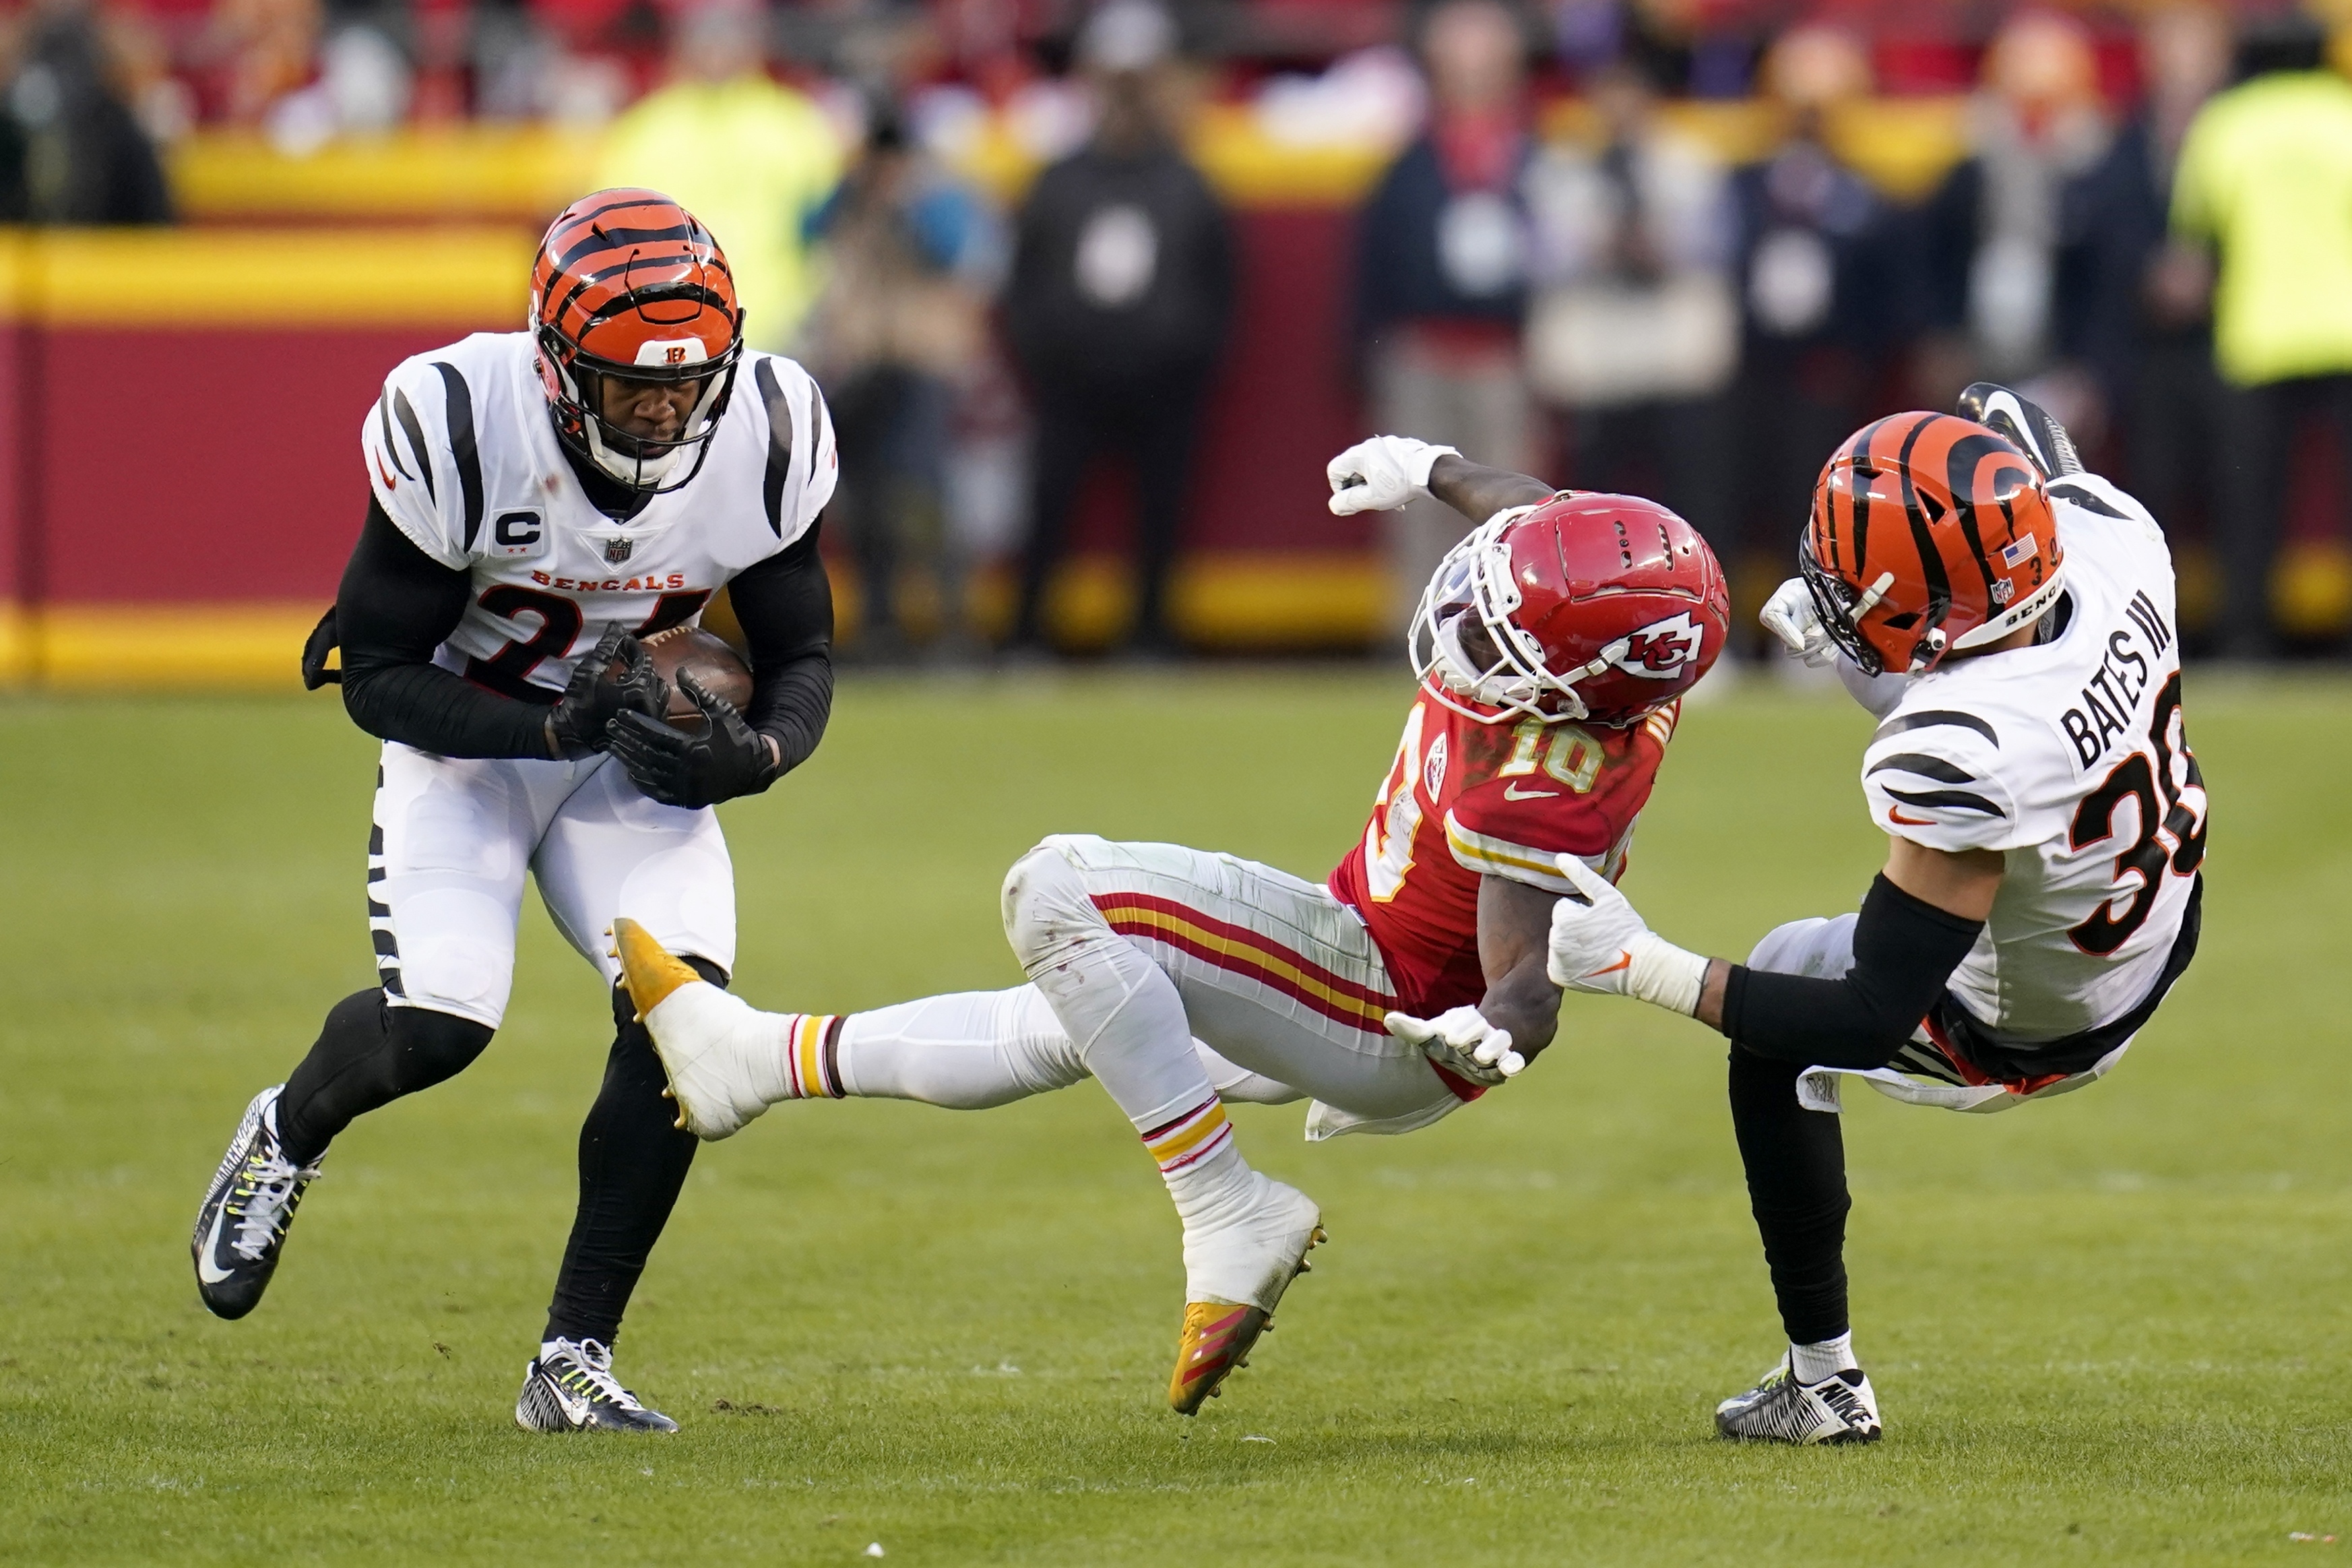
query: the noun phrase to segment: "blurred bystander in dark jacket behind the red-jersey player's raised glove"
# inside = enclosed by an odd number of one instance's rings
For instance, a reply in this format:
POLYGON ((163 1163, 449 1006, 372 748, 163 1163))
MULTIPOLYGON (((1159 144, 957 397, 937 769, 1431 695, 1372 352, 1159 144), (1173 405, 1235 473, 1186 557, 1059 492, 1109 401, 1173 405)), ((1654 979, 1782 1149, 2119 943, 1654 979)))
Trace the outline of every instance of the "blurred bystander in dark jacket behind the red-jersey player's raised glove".
MULTIPOLYGON (((1498 0, 1444 0, 1421 31, 1430 125, 1355 219, 1355 350, 1371 428, 1458 447, 1472 463, 1541 468, 1519 371, 1531 155, 1526 38, 1498 0)), ((1442 501, 1383 512, 1390 630, 1470 527, 1442 501)))

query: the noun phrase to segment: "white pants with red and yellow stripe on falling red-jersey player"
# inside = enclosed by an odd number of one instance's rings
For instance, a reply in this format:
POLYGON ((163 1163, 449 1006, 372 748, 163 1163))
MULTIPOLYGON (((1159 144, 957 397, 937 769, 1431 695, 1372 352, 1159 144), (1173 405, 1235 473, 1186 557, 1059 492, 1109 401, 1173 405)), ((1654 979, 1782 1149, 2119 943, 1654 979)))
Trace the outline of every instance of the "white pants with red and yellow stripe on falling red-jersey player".
MULTIPOLYGON (((1312 882, 1178 844, 1058 835, 1007 877, 1004 926, 1033 973, 1054 940, 1091 931, 1174 980, 1200 1077, 1162 1063, 1167 1084, 1105 1084, 1122 1107, 1178 1103, 1190 1084, 1254 1105, 1312 1098, 1308 1138, 1331 1138, 1406 1133, 1461 1105, 1381 1025, 1395 1006, 1388 966, 1355 910, 1312 882)), ((1091 1074, 1047 994, 1018 985, 851 1013, 840 1077, 851 1095, 978 1110, 1091 1074)))

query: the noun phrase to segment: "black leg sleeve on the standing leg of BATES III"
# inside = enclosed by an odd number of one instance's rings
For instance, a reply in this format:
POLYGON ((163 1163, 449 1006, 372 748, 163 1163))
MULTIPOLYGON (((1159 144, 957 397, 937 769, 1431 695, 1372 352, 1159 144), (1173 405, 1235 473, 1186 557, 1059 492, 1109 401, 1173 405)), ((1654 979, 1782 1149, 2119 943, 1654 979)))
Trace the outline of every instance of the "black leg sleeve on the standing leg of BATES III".
POLYGON ((1846 1140, 1839 1119, 1797 1105, 1795 1063, 1731 1046, 1731 1128, 1748 1204, 1795 1345, 1846 1333, 1846 1140))

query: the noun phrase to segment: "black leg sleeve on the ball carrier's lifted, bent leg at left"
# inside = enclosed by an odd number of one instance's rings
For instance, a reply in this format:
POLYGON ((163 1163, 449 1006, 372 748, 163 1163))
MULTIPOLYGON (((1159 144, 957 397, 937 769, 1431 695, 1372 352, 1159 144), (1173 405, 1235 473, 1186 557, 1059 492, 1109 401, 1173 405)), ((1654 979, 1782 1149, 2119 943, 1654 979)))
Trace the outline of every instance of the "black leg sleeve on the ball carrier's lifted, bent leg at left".
POLYGON ((306 1166, 353 1117, 456 1077, 482 1056, 489 1034, 489 1025, 454 1013, 386 1006, 379 990, 343 997, 278 1095, 287 1159, 306 1166))

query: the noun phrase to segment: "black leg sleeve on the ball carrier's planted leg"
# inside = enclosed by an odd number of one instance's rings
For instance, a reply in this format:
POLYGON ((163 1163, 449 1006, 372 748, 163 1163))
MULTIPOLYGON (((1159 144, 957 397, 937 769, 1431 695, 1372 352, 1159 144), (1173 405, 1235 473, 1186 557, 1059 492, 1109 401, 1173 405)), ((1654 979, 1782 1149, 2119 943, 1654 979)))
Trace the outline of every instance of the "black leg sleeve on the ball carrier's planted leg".
MULTIPOLYGON (((727 985, 717 964, 696 957, 687 964, 713 985, 727 985)), ((677 1126, 677 1107, 661 1098, 668 1079, 654 1037, 619 985, 612 990, 612 1020, 616 1034, 604 1058, 604 1086, 581 1124, 581 1206, 555 1274, 546 1340, 614 1342, 694 1164, 696 1138, 677 1126)))

